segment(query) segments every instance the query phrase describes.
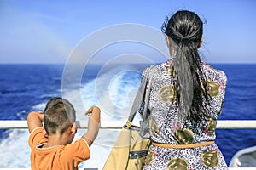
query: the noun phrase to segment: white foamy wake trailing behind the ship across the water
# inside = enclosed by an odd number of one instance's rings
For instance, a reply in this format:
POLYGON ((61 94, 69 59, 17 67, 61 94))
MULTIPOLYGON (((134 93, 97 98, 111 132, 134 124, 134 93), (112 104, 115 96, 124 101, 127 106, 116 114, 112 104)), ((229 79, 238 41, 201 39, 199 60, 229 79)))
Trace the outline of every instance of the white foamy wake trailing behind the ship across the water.
MULTIPOLYGON (((77 110, 77 120, 88 119, 85 109, 92 105, 102 107, 103 121, 125 121, 129 116, 132 100, 136 95, 140 75, 132 71, 115 71, 102 74, 81 85, 80 89, 72 89, 63 94, 77 110), (108 83, 106 83, 108 82, 108 83), (79 94, 84 105, 77 105, 75 95, 79 94), (108 105, 105 105, 108 104, 108 105)), ((60 89, 57 89, 60 91, 60 89)), ((44 111, 45 102, 32 106, 32 111, 44 111)), ((75 139, 79 139, 85 129, 79 129, 75 139)), ((30 148, 27 144, 28 130, 9 130, 9 137, 0 142, 0 167, 30 167, 30 148)), ((92 144, 90 160, 79 167, 98 167, 102 169, 109 151, 119 136, 119 130, 100 129, 98 137, 92 144)))

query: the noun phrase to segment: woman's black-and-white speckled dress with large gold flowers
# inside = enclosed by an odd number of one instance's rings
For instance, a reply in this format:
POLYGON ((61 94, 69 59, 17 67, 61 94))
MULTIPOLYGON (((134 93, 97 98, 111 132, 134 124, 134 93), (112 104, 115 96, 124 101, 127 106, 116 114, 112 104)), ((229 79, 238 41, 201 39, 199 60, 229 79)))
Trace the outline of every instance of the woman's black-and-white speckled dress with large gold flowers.
MULTIPOLYGON (((148 103, 151 139, 161 144, 195 144, 214 140, 216 120, 222 111, 227 83, 224 71, 202 62, 207 77, 207 92, 212 97, 211 105, 207 105, 209 117, 203 117, 201 122, 187 120, 177 124, 178 106, 173 87, 176 77, 171 75, 171 67, 171 59, 157 65, 152 77, 148 103)), ((143 71, 143 76, 148 75, 148 71, 143 71)), ((143 105, 141 107, 140 111, 143 111, 143 105)), ((216 144, 189 149, 151 145, 144 163, 144 170, 228 169, 216 144)))

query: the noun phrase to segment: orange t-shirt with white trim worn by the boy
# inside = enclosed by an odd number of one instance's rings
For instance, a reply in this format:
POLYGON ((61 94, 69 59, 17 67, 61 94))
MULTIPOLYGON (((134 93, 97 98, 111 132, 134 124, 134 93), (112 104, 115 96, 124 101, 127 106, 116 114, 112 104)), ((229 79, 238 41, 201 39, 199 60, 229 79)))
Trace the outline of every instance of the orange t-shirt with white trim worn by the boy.
POLYGON ((42 148, 47 142, 48 139, 44 137, 42 127, 35 128, 30 134, 28 144, 32 150, 32 170, 78 169, 78 165, 81 161, 90 158, 90 149, 84 139, 79 139, 73 144, 42 148))

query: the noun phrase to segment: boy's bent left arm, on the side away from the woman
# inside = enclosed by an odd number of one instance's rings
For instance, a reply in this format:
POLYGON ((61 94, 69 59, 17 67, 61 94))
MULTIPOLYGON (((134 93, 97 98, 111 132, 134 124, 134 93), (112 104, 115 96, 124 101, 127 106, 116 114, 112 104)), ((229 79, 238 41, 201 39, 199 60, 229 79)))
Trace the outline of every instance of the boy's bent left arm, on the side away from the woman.
POLYGON ((32 111, 27 116, 27 126, 29 133, 31 133, 36 127, 42 127, 44 122, 44 114, 32 111))

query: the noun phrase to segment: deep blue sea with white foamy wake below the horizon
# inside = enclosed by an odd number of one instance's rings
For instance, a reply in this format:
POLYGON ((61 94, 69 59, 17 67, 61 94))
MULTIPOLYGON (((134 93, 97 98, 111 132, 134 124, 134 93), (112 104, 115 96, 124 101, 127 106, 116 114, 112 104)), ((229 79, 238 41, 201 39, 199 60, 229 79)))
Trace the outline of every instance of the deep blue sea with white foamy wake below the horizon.
MULTIPOLYGON (((77 120, 92 105, 102 108, 102 122, 124 122, 148 64, 86 65, 82 73, 67 74, 64 64, 0 65, 0 119, 26 120, 30 111, 44 111, 56 96, 70 100, 77 120), (139 69, 138 69, 139 68, 139 69), (66 73, 65 73, 66 71, 66 73), (66 80, 66 81, 63 81, 66 80)), ((218 120, 256 120, 256 64, 212 64, 223 70, 228 86, 218 120)), ((75 66, 74 66, 75 67, 75 66)), ((79 129, 75 139, 86 129, 79 129)), ((256 129, 217 129, 216 143, 229 164, 238 150, 256 145, 256 129)), ((30 167, 27 129, 0 129, 0 167, 30 167)), ((91 146, 90 160, 79 167, 102 169, 119 129, 101 129, 91 146)))

